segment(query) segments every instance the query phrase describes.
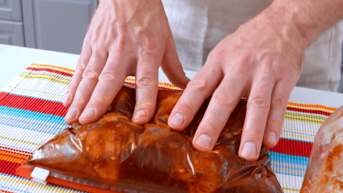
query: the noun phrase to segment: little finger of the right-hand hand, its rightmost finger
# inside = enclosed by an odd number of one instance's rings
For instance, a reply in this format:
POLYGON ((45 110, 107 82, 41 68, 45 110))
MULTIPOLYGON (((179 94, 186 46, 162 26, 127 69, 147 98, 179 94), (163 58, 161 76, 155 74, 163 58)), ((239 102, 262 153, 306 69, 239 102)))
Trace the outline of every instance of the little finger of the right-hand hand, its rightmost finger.
POLYGON ((288 98, 294 86, 289 86, 289 81, 279 81, 274 86, 263 138, 266 147, 274 147, 279 142, 288 98))

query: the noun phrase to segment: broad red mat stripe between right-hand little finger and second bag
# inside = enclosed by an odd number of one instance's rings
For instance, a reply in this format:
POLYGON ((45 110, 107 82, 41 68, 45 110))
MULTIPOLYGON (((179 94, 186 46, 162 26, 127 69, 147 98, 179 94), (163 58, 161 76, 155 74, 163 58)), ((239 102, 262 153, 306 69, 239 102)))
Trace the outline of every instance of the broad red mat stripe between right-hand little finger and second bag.
POLYGON ((269 151, 288 155, 310 157, 312 143, 280 138, 279 143, 269 151))

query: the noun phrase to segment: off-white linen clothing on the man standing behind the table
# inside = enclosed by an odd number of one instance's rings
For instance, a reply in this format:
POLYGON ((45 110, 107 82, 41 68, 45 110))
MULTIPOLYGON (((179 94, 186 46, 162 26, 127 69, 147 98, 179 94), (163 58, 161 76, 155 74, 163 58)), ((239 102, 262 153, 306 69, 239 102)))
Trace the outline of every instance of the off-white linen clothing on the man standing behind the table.
MULTIPOLYGON (((209 52, 272 0, 162 0, 184 69, 199 71, 209 52)), ((336 91, 341 78, 343 21, 305 51, 297 86, 336 91)))

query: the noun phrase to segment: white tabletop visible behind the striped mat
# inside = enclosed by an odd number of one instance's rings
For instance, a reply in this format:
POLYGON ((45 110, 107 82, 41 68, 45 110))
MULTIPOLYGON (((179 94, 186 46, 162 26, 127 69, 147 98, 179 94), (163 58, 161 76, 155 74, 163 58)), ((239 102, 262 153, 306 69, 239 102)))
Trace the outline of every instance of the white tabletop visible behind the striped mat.
MULTIPOLYGON (((61 53, 32 48, 8 46, 0 44, 0 90, 7 86, 11 80, 19 75, 29 64, 53 64, 57 66, 75 69, 79 55, 61 53)), ((196 72, 185 70, 190 79, 196 72)), ((159 69, 158 79, 160 82, 169 82, 159 69)), ((304 104, 319 104, 329 107, 340 107, 343 105, 343 94, 295 87, 289 97, 290 102, 304 104)))

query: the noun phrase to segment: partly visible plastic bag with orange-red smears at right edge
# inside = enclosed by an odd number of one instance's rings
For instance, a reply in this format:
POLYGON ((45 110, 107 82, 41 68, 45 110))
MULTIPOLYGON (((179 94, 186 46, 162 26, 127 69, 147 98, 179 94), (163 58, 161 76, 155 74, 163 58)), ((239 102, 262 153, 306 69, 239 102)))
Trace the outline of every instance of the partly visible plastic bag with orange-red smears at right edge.
POLYGON ((343 192, 343 107, 321 125, 300 193, 343 192))

